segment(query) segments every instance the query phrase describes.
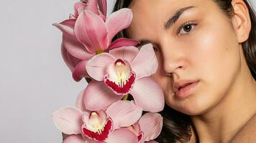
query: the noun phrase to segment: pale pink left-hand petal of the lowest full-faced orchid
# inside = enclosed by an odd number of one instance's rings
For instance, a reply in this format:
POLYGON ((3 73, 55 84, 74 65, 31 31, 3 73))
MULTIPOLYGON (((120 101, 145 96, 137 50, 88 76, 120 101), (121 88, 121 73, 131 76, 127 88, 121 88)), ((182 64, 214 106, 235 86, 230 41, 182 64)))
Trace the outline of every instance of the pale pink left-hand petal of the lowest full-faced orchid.
POLYGON ((75 107, 63 107, 52 113, 55 126, 65 134, 81 134, 82 112, 75 107))

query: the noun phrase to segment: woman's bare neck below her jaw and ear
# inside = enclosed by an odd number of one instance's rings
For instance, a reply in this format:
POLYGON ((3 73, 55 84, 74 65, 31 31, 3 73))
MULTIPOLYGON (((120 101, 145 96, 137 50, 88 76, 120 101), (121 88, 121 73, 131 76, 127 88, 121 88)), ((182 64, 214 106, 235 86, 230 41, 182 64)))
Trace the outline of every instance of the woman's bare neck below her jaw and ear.
MULTIPOLYGON (((247 65, 245 61, 242 64, 247 65)), ((199 141, 230 142, 256 114, 255 87, 255 79, 248 67, 241 68, 237 79, 219 104, 204 114, 191 117, 199 141)))

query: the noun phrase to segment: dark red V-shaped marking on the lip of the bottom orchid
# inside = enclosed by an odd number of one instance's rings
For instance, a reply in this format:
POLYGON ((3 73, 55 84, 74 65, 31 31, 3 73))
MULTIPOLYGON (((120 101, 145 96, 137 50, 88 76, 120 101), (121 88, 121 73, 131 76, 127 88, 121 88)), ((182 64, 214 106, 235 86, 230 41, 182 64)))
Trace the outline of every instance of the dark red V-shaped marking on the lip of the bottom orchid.
POLYGON ((109 118, 104 129, 101 131, 101 134, 99 134, 98 132, 91 132, 90 130, 86 129, 86 126, 82 127, 82 132, 89 139, 93 139, 96 141, 104 141, 107 137, 109 137, 109 132, 111 131, 112 127, 113 121, 109 118))

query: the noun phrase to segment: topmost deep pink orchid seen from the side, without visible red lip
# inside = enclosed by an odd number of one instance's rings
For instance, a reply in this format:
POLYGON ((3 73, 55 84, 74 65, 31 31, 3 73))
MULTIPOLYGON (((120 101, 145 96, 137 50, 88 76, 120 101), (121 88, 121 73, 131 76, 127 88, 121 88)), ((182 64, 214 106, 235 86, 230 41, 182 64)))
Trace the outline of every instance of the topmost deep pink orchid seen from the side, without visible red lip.
POLYGON ((73 79, 78 82, 83 77, 88 77, 85 65, 92 56, 121 46, 137 45, 137 41, 126 38, 116 39, 111 43, 114 36, 126 29, 131 21, 130 9, 115 11, 106 21, 92 11, 83 10, 78 14, 78 19, 54 24, 63 31, 63 59, 73 72, 73 79))

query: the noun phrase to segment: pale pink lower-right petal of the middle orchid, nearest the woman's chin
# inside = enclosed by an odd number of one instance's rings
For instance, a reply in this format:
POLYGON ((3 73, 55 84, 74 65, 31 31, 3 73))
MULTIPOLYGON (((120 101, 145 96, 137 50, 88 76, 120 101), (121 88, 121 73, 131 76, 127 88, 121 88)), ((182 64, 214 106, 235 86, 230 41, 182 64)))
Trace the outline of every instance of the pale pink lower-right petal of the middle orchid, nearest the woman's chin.
POLYGON ((164 96, 161 87, 151 77, 135 81, 130 91, 135 104, 147 112, 160 112, 164 107, 164 96))

